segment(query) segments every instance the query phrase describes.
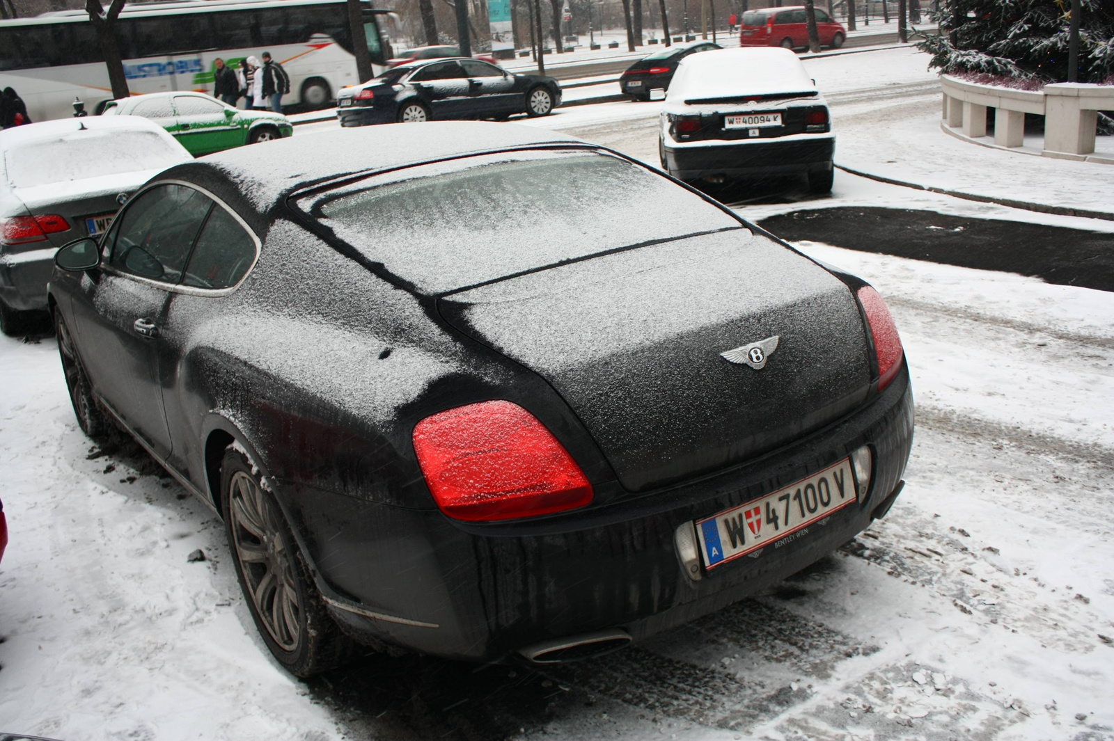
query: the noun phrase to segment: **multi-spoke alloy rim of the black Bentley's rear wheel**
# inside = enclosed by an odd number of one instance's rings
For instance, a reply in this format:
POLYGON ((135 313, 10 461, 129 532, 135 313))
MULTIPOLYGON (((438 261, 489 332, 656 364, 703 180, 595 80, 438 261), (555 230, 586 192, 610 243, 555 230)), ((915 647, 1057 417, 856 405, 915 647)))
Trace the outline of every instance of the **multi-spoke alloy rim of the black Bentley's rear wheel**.
POLYGON ((302 640, 302 607, 294 580, 294 552, 283 535, 281 515, 270 495, 237 471, 229 482, 233 542, 244 583, 267 633, 284 651, 302 640))

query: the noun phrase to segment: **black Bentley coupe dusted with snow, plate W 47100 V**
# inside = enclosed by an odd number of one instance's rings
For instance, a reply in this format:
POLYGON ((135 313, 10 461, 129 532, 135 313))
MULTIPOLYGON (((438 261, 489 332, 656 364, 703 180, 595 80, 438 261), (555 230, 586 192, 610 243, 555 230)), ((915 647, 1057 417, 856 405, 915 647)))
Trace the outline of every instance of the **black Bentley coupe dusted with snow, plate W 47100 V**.
POLYGON ((297 675, 353 638, 615 650, 901 491, 912 395, 874 289, 575 138, 433 122, 229 150, 57 265, 81 428, 124 427, 224 518, 297 675))

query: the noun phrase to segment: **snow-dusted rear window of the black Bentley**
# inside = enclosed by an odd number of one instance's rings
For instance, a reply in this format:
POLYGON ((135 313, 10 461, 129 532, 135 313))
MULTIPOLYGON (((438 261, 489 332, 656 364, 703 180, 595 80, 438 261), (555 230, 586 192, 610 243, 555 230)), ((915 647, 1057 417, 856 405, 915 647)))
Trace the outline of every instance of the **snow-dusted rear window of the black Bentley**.
POLYGON ((299 206, 427 294, 616 247, 743 228, 644 167, 586 150, 408 168, 306 196, 299 206))

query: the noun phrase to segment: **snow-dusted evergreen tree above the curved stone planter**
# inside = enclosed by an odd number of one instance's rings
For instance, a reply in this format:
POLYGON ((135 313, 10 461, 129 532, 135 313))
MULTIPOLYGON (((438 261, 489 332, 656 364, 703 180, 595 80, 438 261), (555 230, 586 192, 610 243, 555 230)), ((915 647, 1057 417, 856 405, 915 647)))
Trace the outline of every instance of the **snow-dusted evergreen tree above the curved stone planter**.
MULTIPOLYGON (((1114 83, 1114 2, 1081 0, 1079 82, 1114 83)), ((939 33, 918 47, 946 73, 1067 80, 1071 0, 941 0, 939 33)))

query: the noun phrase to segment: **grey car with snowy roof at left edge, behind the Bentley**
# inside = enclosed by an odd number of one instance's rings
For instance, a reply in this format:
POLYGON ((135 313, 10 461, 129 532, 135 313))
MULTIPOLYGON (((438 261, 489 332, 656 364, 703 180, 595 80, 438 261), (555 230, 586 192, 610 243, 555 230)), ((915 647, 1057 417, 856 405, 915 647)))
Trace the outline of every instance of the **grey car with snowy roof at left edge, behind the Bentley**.
POLYGON ((108 228, 120 204, 189 152, 141 118, 70 118, 0 131, 0 328, 47 308, 55 251, 108 228))

